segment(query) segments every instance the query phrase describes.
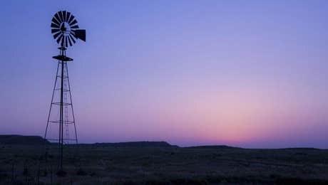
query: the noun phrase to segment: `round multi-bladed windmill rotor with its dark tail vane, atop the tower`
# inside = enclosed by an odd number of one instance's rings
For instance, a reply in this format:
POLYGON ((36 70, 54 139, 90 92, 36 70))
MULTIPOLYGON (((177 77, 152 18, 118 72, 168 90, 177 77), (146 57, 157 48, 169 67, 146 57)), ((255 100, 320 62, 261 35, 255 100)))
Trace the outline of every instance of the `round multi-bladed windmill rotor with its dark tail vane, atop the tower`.
POLYGON ((86 30, 79 29, 75 16, 68 11, 58 11, 51 19, 53 39, 64 47, 73 46, 76 40, 86 41, 86 30))

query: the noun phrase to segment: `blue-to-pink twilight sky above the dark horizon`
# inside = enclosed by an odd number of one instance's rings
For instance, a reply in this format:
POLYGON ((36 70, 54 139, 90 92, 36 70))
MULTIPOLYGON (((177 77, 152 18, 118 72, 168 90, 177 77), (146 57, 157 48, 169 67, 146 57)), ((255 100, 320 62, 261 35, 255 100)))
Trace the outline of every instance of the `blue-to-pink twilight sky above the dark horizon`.
POLYGON ((43 136, 51 18, 86 29, 67 56, 78 139, 328 148, 328 1, 2 1, 0 134, 43 136))

